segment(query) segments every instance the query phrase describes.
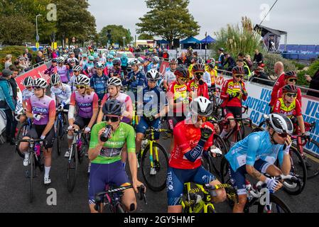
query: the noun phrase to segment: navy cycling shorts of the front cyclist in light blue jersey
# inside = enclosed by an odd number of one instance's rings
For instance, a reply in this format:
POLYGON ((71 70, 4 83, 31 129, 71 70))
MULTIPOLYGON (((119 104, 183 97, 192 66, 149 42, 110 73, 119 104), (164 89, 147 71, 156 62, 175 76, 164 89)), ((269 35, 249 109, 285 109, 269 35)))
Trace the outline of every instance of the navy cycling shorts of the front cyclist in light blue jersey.
MULTIPOLYGON (((266 173, 267 169, 269 166, 271 166, 270 162, 266 162, 264 160, 256 160, 254 163, 254 168, 261 172, 261 173, 266 173)), ((246 194, 246 177, 247 171, 246 171, 246 165, 243 165, 242 167, 239 167, 236 172, 232 170, 232 167, 229 167, 229 177, 230 177, 230 182, 234 189, 237 190, 237 194, 246 194)))

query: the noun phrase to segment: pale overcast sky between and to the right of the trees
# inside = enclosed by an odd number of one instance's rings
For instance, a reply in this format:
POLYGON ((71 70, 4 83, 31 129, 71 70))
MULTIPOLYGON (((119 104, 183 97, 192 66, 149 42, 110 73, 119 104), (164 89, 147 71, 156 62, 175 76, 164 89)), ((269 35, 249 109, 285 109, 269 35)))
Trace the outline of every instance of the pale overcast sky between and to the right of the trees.
MULTIPOLYGON (((240 23, 242 16, 248 16, 254 24, 261 22, 261 14, 267 11, 275 0, 190 0, 188 9, 200 25, 200 35, 205 32, 215 37, 227 23, 240 23)), ((89 0, 90 12, 97 23, 97 31, 109 24, 129 28, 131 35, 136 34, 135 24, 149 11, 144 0, 89 0)), ((288 32, 288 44, 319 45, 319 1, 318 0, 279 0, 269 14, 269 20, 263 26, 288 32)), ((283 38, 281 39, 283 43, 283 38)))

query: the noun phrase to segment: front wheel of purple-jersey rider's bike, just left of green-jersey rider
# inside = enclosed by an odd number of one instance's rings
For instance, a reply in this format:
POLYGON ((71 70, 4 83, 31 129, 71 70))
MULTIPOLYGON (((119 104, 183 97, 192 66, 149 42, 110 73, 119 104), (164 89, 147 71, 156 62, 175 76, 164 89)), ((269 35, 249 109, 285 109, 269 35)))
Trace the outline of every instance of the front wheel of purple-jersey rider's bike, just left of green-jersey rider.
POLYGON ((72 192, 75 188, 75 182, 77 180, 77 167, 79 165, 79 160, 77 156, 77 145, 72 144, 70 150, 70 157, 67 162, 67 190, 72 192))

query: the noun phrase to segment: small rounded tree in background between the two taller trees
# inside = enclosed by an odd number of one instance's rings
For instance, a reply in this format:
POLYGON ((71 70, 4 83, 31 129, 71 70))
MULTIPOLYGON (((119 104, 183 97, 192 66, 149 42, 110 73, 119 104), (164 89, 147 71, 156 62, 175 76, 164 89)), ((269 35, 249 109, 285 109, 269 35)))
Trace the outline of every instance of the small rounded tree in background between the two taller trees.
POLYGON ((123 46, 123 37, 125 37, 125 43, 131 43, 133 40, 133 37, 131 37, 131 33, 128 29, 124 28, 123 26, 109 25, 102 28, 101 32, 99 33, 99 43, 102 43, 102 45, 107 45, 107 41, 109 40, 107 37, 107 31, 110 31, 111 34, 111 44, 119 43, 119 45, 123 46))

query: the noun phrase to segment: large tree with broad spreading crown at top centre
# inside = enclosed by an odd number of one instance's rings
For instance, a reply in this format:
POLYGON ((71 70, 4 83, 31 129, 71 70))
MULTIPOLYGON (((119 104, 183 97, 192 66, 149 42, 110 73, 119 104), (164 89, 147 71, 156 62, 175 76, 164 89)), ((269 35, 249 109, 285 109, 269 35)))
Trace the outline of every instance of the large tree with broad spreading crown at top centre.
POLYGON ((151 9, 136 23, 137 33, 157 35, 168 42, 199 34, 200 26, 188 11, 189 0, 146 0, 151 9))

